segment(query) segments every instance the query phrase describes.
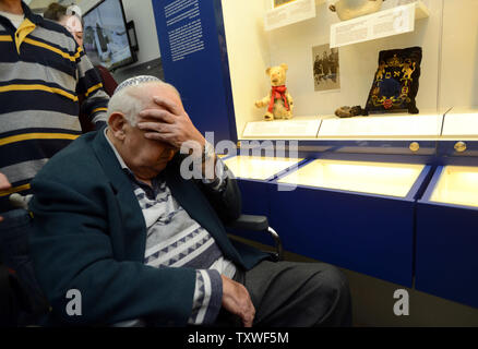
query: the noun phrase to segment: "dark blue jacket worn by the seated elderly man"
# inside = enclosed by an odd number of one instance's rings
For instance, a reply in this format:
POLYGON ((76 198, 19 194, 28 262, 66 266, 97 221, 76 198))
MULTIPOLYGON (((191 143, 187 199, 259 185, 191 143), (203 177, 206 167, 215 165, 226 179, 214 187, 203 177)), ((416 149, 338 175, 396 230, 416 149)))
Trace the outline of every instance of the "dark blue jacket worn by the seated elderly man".
MULTIPOLYGON (((180 157, 165 169, 174 197, 215 239, 225 257, 249 269, 267 255, 231 242, 224 224, 240 215, 240 192, 229 180, 222 194, 179 173, 180 157)), ((32 182, 31 253, 52 312, 49 324, 107 325, 144 318, 183 326, 195 285, 192 268, 143 264, 146 227, 129 178, 103 130, 58 153, 32 182), (70 316, 67 292, 80 290, 82 315, 70 316)))

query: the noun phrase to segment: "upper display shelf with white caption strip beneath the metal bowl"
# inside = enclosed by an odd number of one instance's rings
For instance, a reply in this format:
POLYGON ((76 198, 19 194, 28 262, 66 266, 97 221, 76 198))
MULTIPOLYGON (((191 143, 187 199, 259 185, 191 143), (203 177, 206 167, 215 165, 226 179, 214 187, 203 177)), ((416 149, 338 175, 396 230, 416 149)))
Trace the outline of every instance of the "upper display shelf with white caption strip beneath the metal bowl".
POLYGON ((427 19, 430 12, 422 1, 394 7, 357 19, 331 25, 331 47, 375 40, 410 33, 415 21, 427 19))

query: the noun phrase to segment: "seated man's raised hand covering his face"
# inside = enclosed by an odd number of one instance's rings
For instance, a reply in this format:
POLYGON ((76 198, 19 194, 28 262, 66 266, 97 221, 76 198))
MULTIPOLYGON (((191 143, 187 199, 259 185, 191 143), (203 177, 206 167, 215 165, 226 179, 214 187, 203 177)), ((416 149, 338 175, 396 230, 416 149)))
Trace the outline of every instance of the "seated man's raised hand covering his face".
POLYGON ((178 149, 188 141, 204 147, 204 136, 181 105, 164 97, 154 97, 154 101, 162 109, 145 109, 140 112, 138 120, 138 128, 146 131, 146 139, 168 143, 178 149))

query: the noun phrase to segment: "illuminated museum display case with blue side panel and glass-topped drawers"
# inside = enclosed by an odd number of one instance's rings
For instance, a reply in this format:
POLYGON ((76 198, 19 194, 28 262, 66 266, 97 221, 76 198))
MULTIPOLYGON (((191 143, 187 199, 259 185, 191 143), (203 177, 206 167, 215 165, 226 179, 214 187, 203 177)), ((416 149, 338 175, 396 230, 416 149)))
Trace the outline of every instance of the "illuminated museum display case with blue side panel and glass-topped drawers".
POLYGON ((286 250, 478 306, 478 2, 389 0, 349 21, 334 2, 153 0, 165 77, 200 131, 238 143, 225 161, 243 210, 267 215, 286 250), (330 89, 314 74, 323 45, 338 52, 330 89), (381 51, 409 47, 422 51, 418 115, 334 115, 366 107, 381 51), (264 121, 254 101, 280 63, 294 118, 264 121), (298 152, 248 158, 249 141, 253 156, 264 141, 298 152))

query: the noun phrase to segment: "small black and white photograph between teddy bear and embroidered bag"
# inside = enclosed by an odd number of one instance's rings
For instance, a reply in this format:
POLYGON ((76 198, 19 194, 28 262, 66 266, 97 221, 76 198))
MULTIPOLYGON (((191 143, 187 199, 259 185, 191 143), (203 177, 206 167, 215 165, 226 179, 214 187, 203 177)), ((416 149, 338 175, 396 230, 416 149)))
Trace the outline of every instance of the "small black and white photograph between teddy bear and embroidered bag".
POLYGON ((340 89, 338 48, 328 44, 312 47, 313 84, 315 91, 340 89))

